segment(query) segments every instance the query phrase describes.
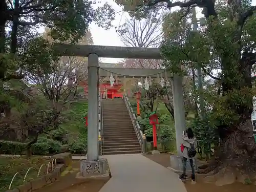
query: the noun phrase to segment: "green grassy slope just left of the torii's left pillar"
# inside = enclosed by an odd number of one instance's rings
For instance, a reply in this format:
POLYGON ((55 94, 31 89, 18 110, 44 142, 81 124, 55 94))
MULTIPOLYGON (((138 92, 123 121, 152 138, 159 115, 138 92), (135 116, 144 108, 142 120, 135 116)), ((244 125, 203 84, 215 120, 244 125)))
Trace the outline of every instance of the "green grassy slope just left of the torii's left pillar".
POLYGON ((86 121, 83 119, 88 113, 87 102, 72 103, 68 110, 63 111, 62 115, 65 117, 65 122, 60 127, 69 134, 69 140, 82 139, 87 140, 87 127, 85 127, 86 121))

